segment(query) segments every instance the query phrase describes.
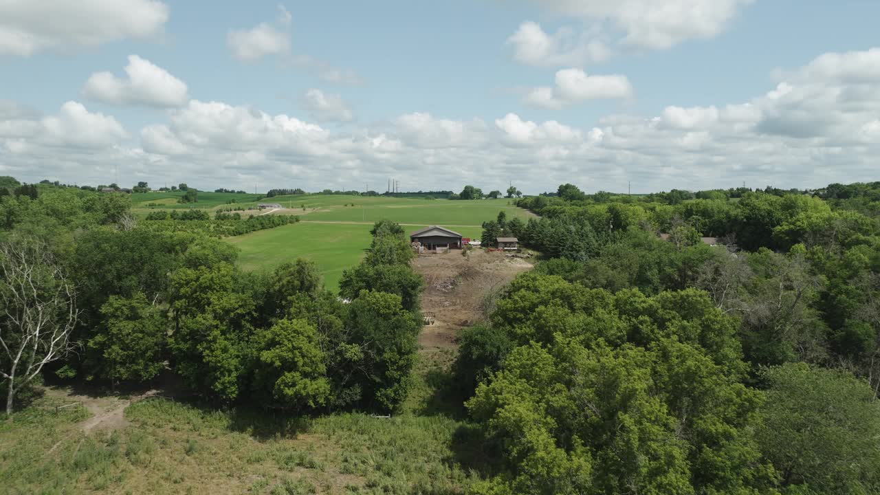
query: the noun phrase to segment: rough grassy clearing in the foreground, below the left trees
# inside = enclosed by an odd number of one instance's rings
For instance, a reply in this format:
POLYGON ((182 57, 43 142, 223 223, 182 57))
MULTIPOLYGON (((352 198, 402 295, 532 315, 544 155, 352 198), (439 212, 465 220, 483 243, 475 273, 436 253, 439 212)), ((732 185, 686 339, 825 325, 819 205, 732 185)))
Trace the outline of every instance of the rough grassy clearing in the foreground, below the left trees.
POLYGON ((87 411, 55 416, 40 399, 0 421, 0 492, 461 493, 473 480, 465 466, 485 468, 485 455, 450 401, 436 408, 450 359, 420 361, 410 399, 390 419, 150 399, 128 406, 123 429, 85 435, 87 411))

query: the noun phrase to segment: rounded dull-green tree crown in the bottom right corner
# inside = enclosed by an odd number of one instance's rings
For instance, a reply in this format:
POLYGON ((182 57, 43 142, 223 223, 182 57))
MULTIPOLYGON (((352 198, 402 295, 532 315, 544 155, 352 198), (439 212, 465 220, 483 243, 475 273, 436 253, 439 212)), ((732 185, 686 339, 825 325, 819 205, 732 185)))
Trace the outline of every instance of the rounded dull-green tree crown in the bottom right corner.
POLYGON ((880 492, 880 401, 864 381, 804 363, 763 379, 759 443, 792 492, 880 492))

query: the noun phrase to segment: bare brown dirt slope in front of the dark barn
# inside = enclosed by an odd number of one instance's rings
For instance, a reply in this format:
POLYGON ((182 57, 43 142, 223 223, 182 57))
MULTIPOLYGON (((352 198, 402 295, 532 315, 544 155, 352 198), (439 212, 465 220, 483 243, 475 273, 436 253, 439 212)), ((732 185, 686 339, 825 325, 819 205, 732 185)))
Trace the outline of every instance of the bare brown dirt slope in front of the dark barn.
POLYGON ((527 260, 482 249, 474 249, 468 257, 455 250, 421 255, 413 264, 427 285, 422 311, 434 315, 434 323, 419 334, 422 351, 454 349, 458 330, 484 320, 488 300, 514 277, 532 269, 527 260))

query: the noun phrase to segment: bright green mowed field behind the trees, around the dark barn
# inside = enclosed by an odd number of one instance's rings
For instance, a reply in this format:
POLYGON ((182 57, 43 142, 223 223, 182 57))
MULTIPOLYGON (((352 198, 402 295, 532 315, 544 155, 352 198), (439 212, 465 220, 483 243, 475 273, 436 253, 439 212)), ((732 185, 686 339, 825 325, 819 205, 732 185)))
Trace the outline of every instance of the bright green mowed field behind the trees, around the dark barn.
MULTIPOLYGON (((507 212, 508 218, 530 215, 510 200, 447 201, 360 196, 279 196, 272 200, 302 211, 301 222, 226 240, 241 249, 245 270, 272 270, 303 257, 315 262, 331 291, 339 288, 342 270, 358 262, 370 247, 373 222, 387 218, 407 233, 427 225, 444 225, 465 237, 479 238, 480 225, 507 212), (294 201, 290 198, 297 198, 294 201), (350 206, 352 203, 355 206, 350 206), (348 205, 348 206, 347 206, 348 205)), ((296 213, 296 211, 294 212, 296 213)))

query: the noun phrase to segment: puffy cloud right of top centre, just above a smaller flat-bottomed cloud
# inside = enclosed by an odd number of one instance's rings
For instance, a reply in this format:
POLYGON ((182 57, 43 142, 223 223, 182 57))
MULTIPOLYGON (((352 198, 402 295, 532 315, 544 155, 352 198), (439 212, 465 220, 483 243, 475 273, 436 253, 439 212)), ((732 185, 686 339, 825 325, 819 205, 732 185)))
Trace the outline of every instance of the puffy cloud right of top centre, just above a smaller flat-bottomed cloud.
POLYGON ((526 21, 507 39, 513 47, 513 58, 519 63, 535 66, 560 66, 602 62, 611 52, 602 41, 590 41, 586 35, 577 36, 571 29, 560 29, 547 34, 541 26, 526 21))

